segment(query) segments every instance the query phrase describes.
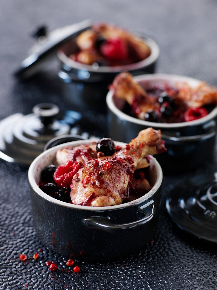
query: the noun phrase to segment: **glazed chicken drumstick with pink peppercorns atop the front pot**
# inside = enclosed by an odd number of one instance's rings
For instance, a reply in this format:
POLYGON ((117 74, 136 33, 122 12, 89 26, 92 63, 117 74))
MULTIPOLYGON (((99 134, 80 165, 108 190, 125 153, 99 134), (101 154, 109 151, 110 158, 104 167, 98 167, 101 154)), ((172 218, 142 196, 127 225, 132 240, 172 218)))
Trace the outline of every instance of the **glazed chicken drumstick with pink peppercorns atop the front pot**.
POLYGON ((86 206, 121 204, 129 197, 137 164, 145 156, 163 151, 161 132, 148 128, 113 156, 86 162, 73 177, 72 203, 86 206))

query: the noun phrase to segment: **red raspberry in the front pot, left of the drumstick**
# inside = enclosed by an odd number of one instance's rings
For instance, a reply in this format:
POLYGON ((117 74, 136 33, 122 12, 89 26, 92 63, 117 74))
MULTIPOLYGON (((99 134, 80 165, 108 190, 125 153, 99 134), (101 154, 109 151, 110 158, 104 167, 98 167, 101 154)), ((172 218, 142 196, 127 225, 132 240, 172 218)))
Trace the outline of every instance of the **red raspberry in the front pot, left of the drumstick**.
POLYGON ((69 187, 73 176, 82 168, 83 164, 73 161, 67 161, 66 165, 60 165, 54 172, 54 181, 61 187, 69 187))

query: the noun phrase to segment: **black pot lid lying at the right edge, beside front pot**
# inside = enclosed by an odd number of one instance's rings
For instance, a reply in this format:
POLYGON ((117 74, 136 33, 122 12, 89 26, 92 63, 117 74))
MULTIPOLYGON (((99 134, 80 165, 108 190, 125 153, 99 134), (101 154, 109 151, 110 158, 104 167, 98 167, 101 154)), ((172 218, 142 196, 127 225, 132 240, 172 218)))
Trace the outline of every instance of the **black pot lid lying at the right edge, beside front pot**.
POLYGON ((179 228, 217 243, 217 178, 198 175, 181 182, 167 200, 167 211, 179 228))

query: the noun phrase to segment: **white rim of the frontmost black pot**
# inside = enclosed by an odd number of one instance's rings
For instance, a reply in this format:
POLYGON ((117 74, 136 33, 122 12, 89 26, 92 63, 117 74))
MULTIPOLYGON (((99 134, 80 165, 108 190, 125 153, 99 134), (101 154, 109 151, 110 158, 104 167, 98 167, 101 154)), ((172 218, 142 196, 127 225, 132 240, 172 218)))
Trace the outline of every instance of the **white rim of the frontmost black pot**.
MULTIPOLYGON (((38 187, 38 184, 36 183, 36 181, 34 179, 34 172, 35 172, 35 170, 37 170, 37 165, 40 162, 40 160, 43 159, 47 154, 54 155, 58 149, 63 148, 65 146, 78 146, 80 144, 89 144, 89 143, 94 142, 94 141, 98 141, 98 140, 79 140, 79 141, 67 142, 67 143, 55 146, 53 148, 50 148, 50 149, 46 150, 45 152, 41 153, 32 162, 32 164, 30 165, 29 171, 28 171, 29 184, 32 187, 32 189, 38 195, 40 195, 41 197, 43 197, 47 201, 52 202, 52 203, 54 203, 56 205, 59 205, 59 206, 63 206, 63 207, 71 208, 71 209, 86 210, 86 211, 104 211, 104 210, 116 210, 116 209, 121 209, 121 208, 128 207, 128 206, 137 205, 137 204, 147 200, 149 197, 151 197, 160 188, 161 183, 162 183, 162 179, 163 179, 163 172, 162 172, 160 164, 152 156, 150 156, 151 162, 154 163, 154 166, 155 166, 155 168, 157 170, 157 180, 156 180, 154 186, 152 187, 152 189, 150 189, 150 191, 148 193, 146 193, 142 197, 138 198, 137 200, 133 200, 131 202, 127 202, 127 203, 124 203, 124 204, 113 205, 113 206, 100 206, 100 207, 82 206, 82 205, 70 204, 70 203, 67 203, 67 202, 62 202, 60 200, 55 199, 54 197, 51 197, 51 196, 47 195, 46 193, 44 193, 38 187)), ((120 145, 120 146, 124 146, 126 143, 115 142, 115 144, 116 145, 120 145)))

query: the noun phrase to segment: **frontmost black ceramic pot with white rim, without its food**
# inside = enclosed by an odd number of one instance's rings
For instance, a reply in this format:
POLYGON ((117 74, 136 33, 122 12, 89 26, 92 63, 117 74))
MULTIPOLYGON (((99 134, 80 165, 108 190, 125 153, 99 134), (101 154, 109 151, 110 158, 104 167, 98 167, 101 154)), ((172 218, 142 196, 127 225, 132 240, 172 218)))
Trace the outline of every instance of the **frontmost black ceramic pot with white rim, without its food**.
MULTIPOLYGON (((150 157, 152 189, 137 200, 116 206, 78 206, 56 200, 38 187, 41 171, 52 163, 63 146, 87 144, 90 140, 55 146, 39 155, 28 178, 36 233, 49 249, 68 257, 98 261, 124 258, 141 249, 153 237, 159 211, 162 170, 150 157)), ((125 145, 116 142, 116 145, 125 145)))

